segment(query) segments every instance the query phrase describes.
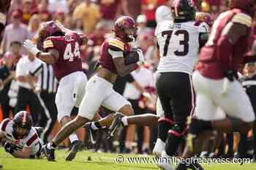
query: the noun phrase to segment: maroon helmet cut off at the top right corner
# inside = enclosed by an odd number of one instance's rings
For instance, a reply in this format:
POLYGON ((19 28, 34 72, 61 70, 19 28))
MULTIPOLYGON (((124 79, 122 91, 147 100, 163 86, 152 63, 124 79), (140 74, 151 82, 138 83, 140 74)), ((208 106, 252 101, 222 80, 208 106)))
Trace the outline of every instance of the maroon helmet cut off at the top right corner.
POLYGON ((230 9, 242 9, 253 17, 255 14, 255 4, 256 0, 230 0, 230 9))

